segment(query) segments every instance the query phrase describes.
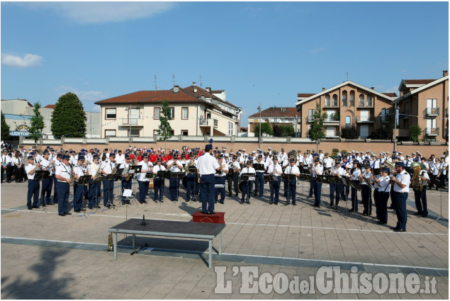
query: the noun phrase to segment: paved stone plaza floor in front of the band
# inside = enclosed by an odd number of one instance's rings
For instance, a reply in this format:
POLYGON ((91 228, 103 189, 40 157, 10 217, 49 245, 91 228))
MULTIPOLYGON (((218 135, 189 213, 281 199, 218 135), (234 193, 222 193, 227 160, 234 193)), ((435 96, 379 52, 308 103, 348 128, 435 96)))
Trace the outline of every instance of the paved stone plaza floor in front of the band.
MULTIPOLYGON (((216 204, 225 212, 223 254, 213 254, 208 268, 208 242, 137 237, 136 246, 149 248, 130 256, 131 237, 118 234, 118 260, 108 252, 108 227, 129 218, 192 220, 198 202, 171 202, 166 186, 164 203, 121 205, 89 210, 86 215, 57 215, 57 205, 28 210, 27 183, 1 184, 1 298, 3 299, 448 299, 449 193, 427 191, 429 216, 417 217, 414 193, 407 203, 407 232, 393 232, 397 218, 389 210, 388 225, 348 212, 350 201, 329 209, 327 185, 322 206, 306 198, 309 184, 299 182, 296 206, 269 204, 269 193, 239 203, 235 196, 216 204), (248 285, 242 271, 257 268, 259 276, 283 273, 289 280, 310 280, 323 266, 342 273, 417 273, 423 283, 435 279, 435 293, 277 293, 248 285), (354 267, 354 268, 351 268, 354 267), (226 269, 226 271, 225 271, 226 269), (247 270, 246 270, 247 269, 247 270), (218 273, 217 271, 224 271, 218 273), (239 271, 239 273, 237 273, 239 271), (229 281, 229 282, 228 282, 229 281), (218 286, 229 284, 220 293, 218 286)), ((168 185, 168 184, 166 184, 168 185)), ((137 190, 137 184, 133 183, 137 190)), ((72 191, 72 188, 71 188, 72 191)), ((116 182, 115 193, 120 193, 116 182)), ((359 195, 360 196, 360 195, 359 195)), ((374 211, 374 210, 373 210, 374 211)), ((373 212, 374 215, 374 212, 373 212)), ((218 239, 213 242, 218 249, 218 239)), ((259 279, 261 280, 261 278, 259 279)), ((258 281, 258 278, 256 278, 258 281)), ((315 278, 316 285, 320 279, 315 278)), ((323 284, 323 283, 322 283, 323 284)), ((318 288, 318 287, 317 287, 318 288)))

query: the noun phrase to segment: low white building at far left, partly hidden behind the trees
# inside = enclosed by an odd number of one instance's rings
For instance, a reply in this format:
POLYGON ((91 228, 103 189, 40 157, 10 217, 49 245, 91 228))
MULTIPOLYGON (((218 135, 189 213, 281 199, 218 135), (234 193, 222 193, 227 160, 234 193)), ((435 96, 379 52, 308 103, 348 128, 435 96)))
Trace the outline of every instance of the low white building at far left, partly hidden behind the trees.
MULTIPOLYGON (((52 112, 55 105, 47 105, 39 109, 44 118, 43 139, 53 139, 52 112)), ((34 106, 26 99, 2 99, 1 111, 5 115, 6 124, 9 125, 11 142, 19 143, 19 137, 28 137, 30 119, 33 117, 34 106)), ((100 113, 86 113, 86 137, 100 137, 100 113)))

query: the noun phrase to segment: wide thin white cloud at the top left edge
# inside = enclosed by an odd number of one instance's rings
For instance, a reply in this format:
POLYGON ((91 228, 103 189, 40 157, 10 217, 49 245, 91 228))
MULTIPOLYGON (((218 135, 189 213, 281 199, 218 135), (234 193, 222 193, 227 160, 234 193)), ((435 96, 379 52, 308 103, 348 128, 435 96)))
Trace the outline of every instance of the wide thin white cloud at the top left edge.
POLYGON ((176 6, 173 2, 26 2, 26 8, 51 9, 76 23, 108 23, 147 18, 176 6))

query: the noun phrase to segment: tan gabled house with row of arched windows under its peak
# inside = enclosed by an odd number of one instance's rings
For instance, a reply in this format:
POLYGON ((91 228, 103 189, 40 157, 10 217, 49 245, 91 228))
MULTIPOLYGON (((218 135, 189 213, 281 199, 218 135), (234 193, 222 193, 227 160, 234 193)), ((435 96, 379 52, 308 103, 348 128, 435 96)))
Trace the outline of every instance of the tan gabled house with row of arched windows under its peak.
POLYGON ((319 104, 327 138, 339 137, 342 127, 355 126, 359 137, 365 138, 377 127, 388 126, 393 113, 392 101, 395 93, 381 93, 353 81, 344 81, 320 93, 298 93, 296 108, 301 115, 301 137, 308 137, 310 123, 319 104))

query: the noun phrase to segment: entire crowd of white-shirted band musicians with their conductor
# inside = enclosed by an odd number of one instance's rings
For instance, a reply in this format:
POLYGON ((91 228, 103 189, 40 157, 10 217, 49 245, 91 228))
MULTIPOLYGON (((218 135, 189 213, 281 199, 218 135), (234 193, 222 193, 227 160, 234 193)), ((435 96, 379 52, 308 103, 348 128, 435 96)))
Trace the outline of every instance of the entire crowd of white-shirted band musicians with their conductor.
MULTIPOLYGON (((269 183, 270 204, 296 205, 296 187, 300 179, 309 181, 308 198, 314 198, 313 205, 320 208, 322 183, 330 185, 330 208, 337 210, 339 201, 351 200, 350 212, 359 211, 358 193, 364 207, 363 215, 371 215, 372 200, 376 208, 378 223, 388 222, 388 199, 390 209, 398 215, 395 231, 405 231, 405 203, 410 186, 415 191, 416 215, 426 217, 426 190, 445 188, 448 181, 448 153, 441 157, 423 157, 420 152, 342 152, 323 154, 312 149, 306 152, 292 150, 276 152, 270 147, 247 153, 246 149, 227 152, 225 147, 213 148, 207 144, 198 147, 165 152, 164 149, 127 149, 125 152, 112 149, 18 149, 1 156, 1 182, 14 179, 28 180, 28 209, 58 204, 61 216, 70 215, 68 200, 70 186, 73 186, 74 212, 89 209, 114 207, 114 182, 121 182, 120 199, 130 203, 124 192, 133 191, 133 178, 137 181, 139 203, 147 203, 150 195, 155 203, 164 202, 165 180, 169 181, 169 199, 180 198, 179 189, 186 189, 185 200, 199 200, 208 195, 213 203, 203 206, 206 214, 214 213, 214 203, 224 203, 225 191, 230 196, 240 196, 240 203, 249 203, 263 197, 264 183, 269 183), (24 160, 23 158, 26 158, 24 160), (209 160, 209 161, 208 161, 209 160), (420 170, 417 170, 420 166, 420 170), (414 167, 414 168, 413 168, 414 167), (45 172, 43 172, 45 171, 45 172), (212 176, 211 176, 212 175, 212 176), (37 176, 38 179, 34 177, 37 176), (208 180, 208 188, 203 182, 208 180), (211 186, 213 185, 213 186, 211 186), (202 188, 205 191, 202 191, 202 188), (280 200, 282 188, 284 200, 280 200), (210 190, 213 191, 210 191, 210 190), (53 198, 51 198, 53 192, 53 198), (86 203, 84 203, 86 200, 86 203)), ((205 202, 202 202, 205 203, 205 202)), ((347 208, 347 206, 346 206, 347 208)))

